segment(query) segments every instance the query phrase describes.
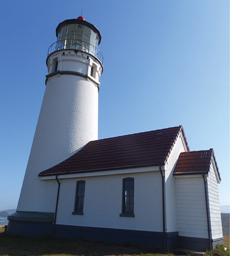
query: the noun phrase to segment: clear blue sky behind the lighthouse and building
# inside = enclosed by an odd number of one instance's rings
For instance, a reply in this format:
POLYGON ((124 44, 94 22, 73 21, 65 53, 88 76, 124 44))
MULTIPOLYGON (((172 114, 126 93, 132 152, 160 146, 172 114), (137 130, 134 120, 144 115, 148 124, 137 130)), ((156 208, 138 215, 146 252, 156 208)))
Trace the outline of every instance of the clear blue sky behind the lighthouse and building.
POLYGON ((229 204, 228 0, 0 1, 0 210, 16 208, 55 29, 81 14, 101 32, 99 139, 183 125, 214 148, 229 204))

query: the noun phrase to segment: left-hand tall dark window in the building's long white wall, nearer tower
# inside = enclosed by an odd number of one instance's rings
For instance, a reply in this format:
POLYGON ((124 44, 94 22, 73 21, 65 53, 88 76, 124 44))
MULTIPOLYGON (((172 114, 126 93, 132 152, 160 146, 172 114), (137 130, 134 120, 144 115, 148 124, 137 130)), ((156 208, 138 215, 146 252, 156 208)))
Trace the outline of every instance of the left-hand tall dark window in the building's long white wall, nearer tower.
POLYGON ((80 180, 77 182, 75 208, 72 214, 83 215, 84 195, 85 195, 85 181, 80 180))

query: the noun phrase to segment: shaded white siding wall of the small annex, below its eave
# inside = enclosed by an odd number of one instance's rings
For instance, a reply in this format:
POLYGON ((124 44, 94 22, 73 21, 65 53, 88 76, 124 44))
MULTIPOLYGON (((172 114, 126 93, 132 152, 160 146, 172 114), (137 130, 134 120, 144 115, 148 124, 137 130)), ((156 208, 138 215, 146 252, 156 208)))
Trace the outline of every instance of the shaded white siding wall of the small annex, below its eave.
POLYGON ((176 178, 176 208, 179 236, 208 238, 202 177, 176 178))

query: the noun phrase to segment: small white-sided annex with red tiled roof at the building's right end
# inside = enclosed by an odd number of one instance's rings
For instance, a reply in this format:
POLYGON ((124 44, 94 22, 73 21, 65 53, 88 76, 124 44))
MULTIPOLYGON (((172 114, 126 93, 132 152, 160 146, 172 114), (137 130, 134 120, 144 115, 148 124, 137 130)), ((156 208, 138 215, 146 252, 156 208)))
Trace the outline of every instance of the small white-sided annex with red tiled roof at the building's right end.
POLYGON ((222 240, 218 183, 220 174, 214 151, 181 153, 174 169, 177 228, 181 241, 191 247, 209 240, 213 248, 222 240), (202 241, 200 239, 200 241, 202 241))

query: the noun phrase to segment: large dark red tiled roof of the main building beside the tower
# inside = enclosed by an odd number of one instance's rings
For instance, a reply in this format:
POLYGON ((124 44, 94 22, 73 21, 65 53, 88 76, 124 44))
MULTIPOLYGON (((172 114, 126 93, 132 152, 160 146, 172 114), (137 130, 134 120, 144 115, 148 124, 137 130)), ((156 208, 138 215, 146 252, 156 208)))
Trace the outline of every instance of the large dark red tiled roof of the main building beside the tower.
POLYGON ((44 170, 39 176, 165 164, 180 132, 189 150, 183 127, 180 125, 90 141, 76 154, 44 170))

